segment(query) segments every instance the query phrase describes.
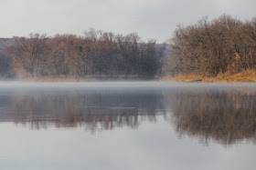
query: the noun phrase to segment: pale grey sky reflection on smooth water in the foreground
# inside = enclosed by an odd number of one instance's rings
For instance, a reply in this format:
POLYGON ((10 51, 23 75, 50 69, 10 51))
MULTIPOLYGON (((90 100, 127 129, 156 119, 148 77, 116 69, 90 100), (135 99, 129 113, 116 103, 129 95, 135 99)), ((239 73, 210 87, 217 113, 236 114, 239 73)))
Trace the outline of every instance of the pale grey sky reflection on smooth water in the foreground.
POLYGON ((253 169, 255 146, 229 149, 176 137, 159 120, 137 130, 123 128, 91 135, 82 128, 31 131, 0 125, 4 169, 253 169), (8 133, 6 133, 6 131, 8 133))

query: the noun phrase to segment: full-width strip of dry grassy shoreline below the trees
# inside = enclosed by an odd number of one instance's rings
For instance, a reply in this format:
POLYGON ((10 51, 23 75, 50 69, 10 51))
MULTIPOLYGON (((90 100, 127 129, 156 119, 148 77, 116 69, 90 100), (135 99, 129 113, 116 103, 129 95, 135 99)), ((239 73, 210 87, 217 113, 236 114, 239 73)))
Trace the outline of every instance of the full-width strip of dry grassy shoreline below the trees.
POLYGON ((247 70, 242 71, 237 74, 219 74, 216 77, 197 75, 197 74, 181 74, 176 76, 171 75, 160 75, 155 77, 146 77, 138 75, 59 75, 59 76, 36 76, 36 77, 26 77, 26 78, 3 78, 0 79, 1 82, 34 82, 34 83, 61 83, 61 82, 71 82, 71 83, 82 83, 82 82, 136 82, 136 81, 172 81, 176 83, 248 83, 256 82, 256 71, 247 70))

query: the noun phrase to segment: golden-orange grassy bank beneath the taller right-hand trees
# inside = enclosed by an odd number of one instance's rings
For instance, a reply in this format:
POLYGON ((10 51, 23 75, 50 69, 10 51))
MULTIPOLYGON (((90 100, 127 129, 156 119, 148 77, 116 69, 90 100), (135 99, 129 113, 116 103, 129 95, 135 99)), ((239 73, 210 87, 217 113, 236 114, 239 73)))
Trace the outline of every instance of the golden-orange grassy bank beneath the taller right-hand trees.
POLYGON ((254 70, 247 70, 238 74, 219 74, 216 77, 196 74, 176 75, 175 77, 164 75, 159 79, 176 82, 256 82, 256 72, 254 70))

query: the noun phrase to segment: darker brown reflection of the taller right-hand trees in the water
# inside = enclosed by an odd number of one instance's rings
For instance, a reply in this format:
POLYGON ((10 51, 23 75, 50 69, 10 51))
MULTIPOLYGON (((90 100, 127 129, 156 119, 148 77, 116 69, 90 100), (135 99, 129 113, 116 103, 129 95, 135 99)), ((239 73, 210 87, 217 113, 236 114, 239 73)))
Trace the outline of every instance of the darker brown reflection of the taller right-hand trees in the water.
POLYGON ((256 89, 201 88, 165 94, 179 135, 230 145, 256 143, 256 89))

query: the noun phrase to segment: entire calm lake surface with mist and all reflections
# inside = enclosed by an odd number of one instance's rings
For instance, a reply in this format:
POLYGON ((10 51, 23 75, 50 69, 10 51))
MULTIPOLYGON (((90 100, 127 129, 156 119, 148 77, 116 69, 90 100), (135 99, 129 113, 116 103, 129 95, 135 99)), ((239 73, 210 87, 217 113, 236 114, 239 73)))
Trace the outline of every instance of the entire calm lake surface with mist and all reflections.
POLYGON ((0 83, 1 169, 255 169, 256 84, 0 83))

